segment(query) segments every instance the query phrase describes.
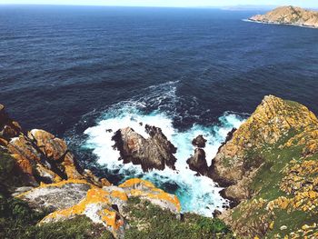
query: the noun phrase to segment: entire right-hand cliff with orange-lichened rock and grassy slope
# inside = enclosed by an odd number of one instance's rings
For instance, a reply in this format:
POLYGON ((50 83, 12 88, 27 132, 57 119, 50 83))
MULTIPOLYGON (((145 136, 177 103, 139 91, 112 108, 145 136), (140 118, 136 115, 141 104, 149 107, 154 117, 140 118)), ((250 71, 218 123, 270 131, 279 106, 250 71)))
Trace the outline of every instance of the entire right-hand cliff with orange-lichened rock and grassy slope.
POLYGON ((209 175, 236 204, 220 217, 243 237, 318 236, 318 120, 265 96, 219 149, 209 175))

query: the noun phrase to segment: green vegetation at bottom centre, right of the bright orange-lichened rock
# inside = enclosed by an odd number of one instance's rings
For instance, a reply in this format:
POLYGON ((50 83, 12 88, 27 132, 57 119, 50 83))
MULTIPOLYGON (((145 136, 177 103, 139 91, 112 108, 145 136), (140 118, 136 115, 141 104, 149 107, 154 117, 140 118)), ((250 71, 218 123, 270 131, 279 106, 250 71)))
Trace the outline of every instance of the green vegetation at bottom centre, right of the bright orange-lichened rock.
POLYGON ((183 220, 175 214, 138 198, 129 199, 125 207, 131 228, 125 238, 234 238, 230 229, 219 219, 197 214, 184 214, 183 220))

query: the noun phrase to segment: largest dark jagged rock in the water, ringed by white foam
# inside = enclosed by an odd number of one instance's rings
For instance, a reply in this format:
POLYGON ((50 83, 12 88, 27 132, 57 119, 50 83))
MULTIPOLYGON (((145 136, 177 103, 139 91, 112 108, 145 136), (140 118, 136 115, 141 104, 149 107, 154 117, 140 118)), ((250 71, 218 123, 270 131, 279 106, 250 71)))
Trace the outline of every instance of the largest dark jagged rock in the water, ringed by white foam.
POLYGON ((118 149, 124 164, 141 164, 144 172, 151 169, 164 170, 165 165, 174 168, 176 147, 165 137, 160 128, 145 125, 149 138, 127 127, 114 133, 114 149, 118 149))

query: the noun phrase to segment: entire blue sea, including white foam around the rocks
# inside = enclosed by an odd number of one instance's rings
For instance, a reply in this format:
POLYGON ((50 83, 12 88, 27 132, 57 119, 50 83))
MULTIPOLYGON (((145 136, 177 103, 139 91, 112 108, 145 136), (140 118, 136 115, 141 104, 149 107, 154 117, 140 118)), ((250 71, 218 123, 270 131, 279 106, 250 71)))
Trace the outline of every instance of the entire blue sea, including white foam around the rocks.
MULTIPOLYGON (((262 12, 261 12, 262 13, 262 12)), ((97 174, 144 177, 184 211, 226 204, 185 160, 204 134, 208 163, 264 95, 318 113, 318 30, 244 22, 255 11, 0 5, 0 103, 26 129, 65 137, 97 174), (105 129, 163 127, 178 174, 117 161, 105 129)), ((145 135, 146 136, 146 135, 145 135)))

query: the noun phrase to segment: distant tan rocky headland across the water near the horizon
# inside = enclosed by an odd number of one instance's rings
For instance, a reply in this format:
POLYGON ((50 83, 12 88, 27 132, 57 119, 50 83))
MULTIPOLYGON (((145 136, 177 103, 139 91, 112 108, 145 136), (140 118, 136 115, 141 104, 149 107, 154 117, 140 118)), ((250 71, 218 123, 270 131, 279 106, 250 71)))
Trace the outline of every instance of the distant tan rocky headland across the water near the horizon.
POLYGON ((275 8, 265 15, 253 15, 249 20, 269 24, 300 25, 316 28, 318 27, 318 12, 289 5, 275 8))

